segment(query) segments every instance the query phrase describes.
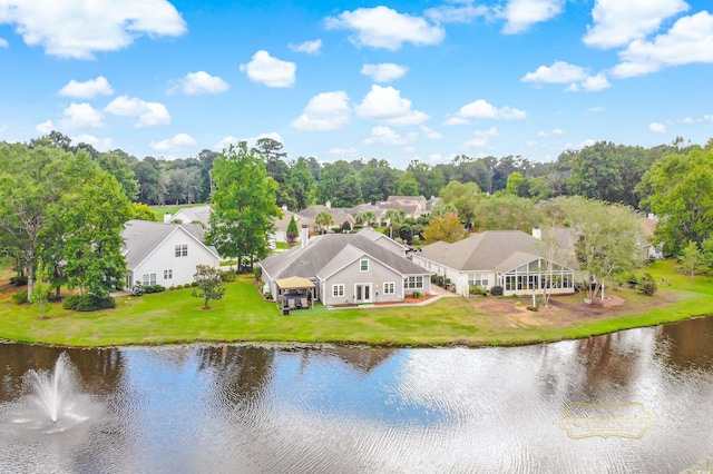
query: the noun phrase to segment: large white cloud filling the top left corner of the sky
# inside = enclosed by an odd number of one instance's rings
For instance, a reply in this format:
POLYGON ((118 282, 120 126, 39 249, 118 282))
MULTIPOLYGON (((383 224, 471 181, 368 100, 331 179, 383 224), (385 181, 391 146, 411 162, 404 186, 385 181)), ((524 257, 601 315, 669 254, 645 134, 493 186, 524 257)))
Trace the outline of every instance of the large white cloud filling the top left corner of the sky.
POLYGON ((177 37, 186 22, 166 0, 3 0, 0 23, 13 24, 28 46, 47 55, 94 59, 97 51, 116 51, 140 36, 177 37))

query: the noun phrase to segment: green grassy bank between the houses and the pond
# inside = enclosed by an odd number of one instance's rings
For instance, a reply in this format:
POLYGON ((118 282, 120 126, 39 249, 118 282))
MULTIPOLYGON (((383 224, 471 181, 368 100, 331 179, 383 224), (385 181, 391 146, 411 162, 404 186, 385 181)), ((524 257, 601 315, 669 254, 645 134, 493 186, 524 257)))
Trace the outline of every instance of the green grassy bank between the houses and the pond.
MULTIPOLYGON (((557 299, 556 313, 520 312, 512 318, 478 309, 479 300, 442 298, 426 306, 314 309, 283 316, 261 299, 250 276, 227 284, 225 298, 202 309, 191 289, 120 297, 116 309, 75 313, 52 305, 38 319, 30 305, 0 297, 0 338, 67 346, 113 346, 188 342, 358 343, 392 346, 515 345, 587 337, 651 326, 691 316, 713 315, 713 280, 672 273, 671 264, 647 269, 667 284, 653 297, 629 289, 611 292, 626 300, 600 315, 578 315, 582 296, 557 299), (570 309, 567 309, 570 308, 570 309)), ((488 299, 488 298, 486 298, 488 299)), ((494 298, 489 298, 495 300, 494 298)), ((522 300, 522 305, 527 299, 522 300)), ((515 305, 506 299, 504 305, 515 305)))

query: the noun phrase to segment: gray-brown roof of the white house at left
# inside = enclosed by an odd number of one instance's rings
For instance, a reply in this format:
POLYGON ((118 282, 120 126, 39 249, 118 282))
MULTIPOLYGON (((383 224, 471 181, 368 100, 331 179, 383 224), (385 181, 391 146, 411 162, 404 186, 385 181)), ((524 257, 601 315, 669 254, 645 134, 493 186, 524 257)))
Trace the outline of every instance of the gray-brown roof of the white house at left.
POLYGON ((203 244, 205 230, 199 224, 164 224, 150 220, 129 220, 124 225, 124 256, 129 270, 136 268, 154 250, 174 233, 184 233, 199 246, 221 258, 215 247, 203 244))

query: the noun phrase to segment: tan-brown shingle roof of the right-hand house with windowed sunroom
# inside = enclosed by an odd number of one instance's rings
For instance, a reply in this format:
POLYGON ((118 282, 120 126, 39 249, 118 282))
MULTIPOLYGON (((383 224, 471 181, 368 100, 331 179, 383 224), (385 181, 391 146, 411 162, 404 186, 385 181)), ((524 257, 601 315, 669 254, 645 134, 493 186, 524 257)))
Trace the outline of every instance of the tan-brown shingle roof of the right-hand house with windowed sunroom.
POLYGON ((419 257, 457 270, 507 271, 541 257, 538 241, 521 230, 487 230, 455 244, 427 245, 419 257))

